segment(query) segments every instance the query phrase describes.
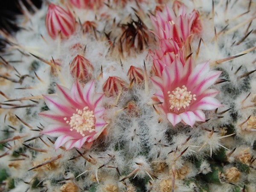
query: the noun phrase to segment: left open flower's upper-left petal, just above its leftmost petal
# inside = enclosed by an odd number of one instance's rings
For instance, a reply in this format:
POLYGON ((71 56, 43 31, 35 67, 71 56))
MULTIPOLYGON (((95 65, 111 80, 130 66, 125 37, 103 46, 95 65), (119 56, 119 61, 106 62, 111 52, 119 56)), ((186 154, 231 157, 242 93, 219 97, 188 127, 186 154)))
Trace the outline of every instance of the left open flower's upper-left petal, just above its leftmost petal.
POLYGON ((56 114, 70 116, 75 112, 69 105, 65 104, 58 96, 44 95, 44 101, 51 111, 56 114))

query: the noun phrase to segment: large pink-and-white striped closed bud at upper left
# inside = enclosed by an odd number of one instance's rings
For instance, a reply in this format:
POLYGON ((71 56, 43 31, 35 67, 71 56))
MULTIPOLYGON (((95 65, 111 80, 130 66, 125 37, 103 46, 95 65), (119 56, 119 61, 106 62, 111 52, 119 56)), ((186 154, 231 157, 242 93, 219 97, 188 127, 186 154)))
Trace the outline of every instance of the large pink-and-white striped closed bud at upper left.
POLYGON ((76 22, 72 13, 51 3, 45 18, 48 34, 55 39, 60 33, 62 39, 67 39, 75 32, 76 22))

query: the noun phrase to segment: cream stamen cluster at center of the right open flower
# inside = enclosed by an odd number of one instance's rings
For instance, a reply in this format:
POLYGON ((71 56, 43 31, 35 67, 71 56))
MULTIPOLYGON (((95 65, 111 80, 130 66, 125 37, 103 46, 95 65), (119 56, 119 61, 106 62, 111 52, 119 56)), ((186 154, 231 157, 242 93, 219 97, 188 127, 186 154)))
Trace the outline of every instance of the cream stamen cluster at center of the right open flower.
POLYGON ((196 100, 195 94, 192 95, 191 91, 187 91, 185 85, 182 88, 177 87, 175 90, 167 92, 169 96, 170 109, 175 111, 182 111, 189 107, 190 103, 196 100))

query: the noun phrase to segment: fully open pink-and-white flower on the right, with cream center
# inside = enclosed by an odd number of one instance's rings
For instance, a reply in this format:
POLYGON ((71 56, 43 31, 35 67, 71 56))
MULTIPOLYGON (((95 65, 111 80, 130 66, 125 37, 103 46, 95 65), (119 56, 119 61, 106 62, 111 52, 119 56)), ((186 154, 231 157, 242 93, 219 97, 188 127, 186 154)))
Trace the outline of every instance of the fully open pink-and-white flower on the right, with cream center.
POLYGON ((204 122, 203 110, 222 106, 214 98, 218 91, 209 89, 220 74, 221 71, 210 70, 209 62, 195 67, 195 62, 189 58, 183 66, 179 59, 175 58, 170 66, 164 67, 161 77, 151 77, 157 89, 152 99, 162 102, 155 107, 160 113, 166 114, 173 126, 183 122, 192 127, 196 121, 204 122))

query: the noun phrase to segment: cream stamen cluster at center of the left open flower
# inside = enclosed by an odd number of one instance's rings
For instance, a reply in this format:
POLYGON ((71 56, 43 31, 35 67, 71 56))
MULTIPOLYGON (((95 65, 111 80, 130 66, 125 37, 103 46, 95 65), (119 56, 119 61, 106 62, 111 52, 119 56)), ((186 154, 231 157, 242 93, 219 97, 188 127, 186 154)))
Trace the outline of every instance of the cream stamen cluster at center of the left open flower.
POLYGON ((70 125, 70 131, 76 130, 81 136, 85 136, 84 131, 89 133, 95 131, 95 117, 93 111, 90 111, 88 107, 76 109, 77 113, 73 113, 70 117, 70 121, 66 121, 67 117, 64 118, 67 124, 70 125))

